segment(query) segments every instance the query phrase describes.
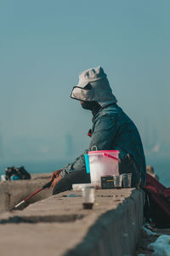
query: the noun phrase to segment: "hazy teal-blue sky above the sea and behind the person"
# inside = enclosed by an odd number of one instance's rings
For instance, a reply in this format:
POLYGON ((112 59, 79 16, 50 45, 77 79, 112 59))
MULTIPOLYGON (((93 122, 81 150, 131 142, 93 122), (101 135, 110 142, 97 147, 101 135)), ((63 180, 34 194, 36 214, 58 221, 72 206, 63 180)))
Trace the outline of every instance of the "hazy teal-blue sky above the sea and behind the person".
POLYGON ((92 113, 70 98, 101 66, 145 154, 170 154, 170 1, 0 0, 0 160, 74 159, 92 113))

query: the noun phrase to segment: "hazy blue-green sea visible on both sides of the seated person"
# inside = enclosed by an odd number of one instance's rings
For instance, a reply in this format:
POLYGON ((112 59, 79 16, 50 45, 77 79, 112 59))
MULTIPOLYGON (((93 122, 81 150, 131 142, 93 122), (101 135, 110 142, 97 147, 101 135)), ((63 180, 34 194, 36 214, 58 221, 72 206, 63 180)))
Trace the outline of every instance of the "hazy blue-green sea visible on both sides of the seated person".
MULTIPOLYGON (((69 161, 71 162, 71 160, 69 161)), ((25 166, 29 173, 52 173, 55 170, 62 169, 68 160, 13 160, 0 161, 0 175, 5 174, 5 168, 9 166, 25 166)), ((155 173, 159 176, 160 182, 170 187, 170 159, 148 159, 148 166, 153 166, 155 173)))

